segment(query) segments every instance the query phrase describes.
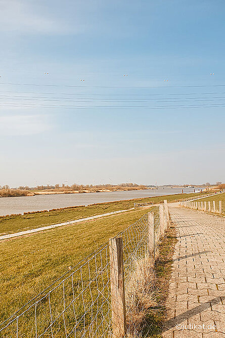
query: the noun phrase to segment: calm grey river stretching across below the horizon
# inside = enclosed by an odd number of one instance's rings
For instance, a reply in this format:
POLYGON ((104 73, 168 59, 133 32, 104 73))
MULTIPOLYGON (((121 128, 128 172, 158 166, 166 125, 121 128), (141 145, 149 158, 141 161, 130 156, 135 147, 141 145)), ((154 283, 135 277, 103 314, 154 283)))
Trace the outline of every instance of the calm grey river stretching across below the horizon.
POLYGON ((35 195, 0 198, 0 216, 23 214, 38 210, 50 210, 66 206, 87 205, 117 200, 194 192, 193 188, 158 188, 157 190, 132 190, 91 192, 83 194, 35 195))

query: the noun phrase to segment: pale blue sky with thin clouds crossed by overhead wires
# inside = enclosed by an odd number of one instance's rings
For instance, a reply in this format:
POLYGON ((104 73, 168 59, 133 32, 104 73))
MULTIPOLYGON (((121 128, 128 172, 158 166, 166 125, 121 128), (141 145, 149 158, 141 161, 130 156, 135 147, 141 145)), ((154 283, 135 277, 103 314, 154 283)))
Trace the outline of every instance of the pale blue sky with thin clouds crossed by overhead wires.
POLYGON ((0 12, 1 186, 225 181, 222 0, 0 12))

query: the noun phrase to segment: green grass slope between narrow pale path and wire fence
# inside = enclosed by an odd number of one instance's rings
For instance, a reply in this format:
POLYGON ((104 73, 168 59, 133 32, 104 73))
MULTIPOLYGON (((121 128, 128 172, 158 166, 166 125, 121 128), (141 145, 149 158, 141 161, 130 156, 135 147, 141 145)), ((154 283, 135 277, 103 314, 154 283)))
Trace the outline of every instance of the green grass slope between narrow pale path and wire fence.
POLYGON ((0 322, 149 209, 0 243, 0 322))

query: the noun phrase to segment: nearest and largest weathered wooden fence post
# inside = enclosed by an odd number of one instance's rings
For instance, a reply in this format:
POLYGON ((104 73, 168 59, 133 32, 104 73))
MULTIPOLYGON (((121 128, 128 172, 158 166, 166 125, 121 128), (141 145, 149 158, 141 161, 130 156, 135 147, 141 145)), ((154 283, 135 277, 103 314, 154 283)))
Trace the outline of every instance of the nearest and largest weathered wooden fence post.
POLYGON ((123 275, 123 240, 122 237, 109 241, 110 252, 110 284, 112 304, 113 338, 121 338, 126 334, 126 310, 123 275))

